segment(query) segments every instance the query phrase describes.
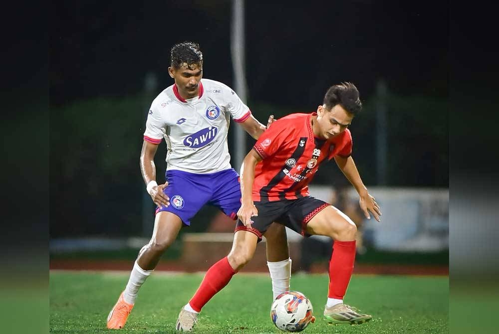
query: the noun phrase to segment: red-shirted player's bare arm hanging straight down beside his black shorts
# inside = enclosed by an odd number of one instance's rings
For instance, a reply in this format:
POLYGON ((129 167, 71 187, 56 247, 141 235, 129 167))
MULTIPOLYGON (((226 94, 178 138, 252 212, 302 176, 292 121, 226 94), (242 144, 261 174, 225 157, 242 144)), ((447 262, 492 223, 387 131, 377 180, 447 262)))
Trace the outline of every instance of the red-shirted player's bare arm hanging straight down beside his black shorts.
POLYGON ((251 227, 253 222, 251 217, 258 215, 251 193, 253 192, 254 169, 261 160, 261 157, 251 150, 241 165, 241 207, 238 211, 238 218, 246 227, 251 227))

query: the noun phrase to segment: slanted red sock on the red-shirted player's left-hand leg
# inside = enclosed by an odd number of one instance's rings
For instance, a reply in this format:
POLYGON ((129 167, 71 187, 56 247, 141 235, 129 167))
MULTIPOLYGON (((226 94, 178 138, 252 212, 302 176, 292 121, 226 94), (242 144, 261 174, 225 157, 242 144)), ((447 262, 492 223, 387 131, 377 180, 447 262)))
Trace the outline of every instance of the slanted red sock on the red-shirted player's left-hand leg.
POLYGON ((205 306, 217 292, 222 290, 236 273, 237 272, 229 264, 227 256, 211 266, 206 272, 205 278, 203 278, 203 282, 201 282, 198 291, 196 291, 194 297, 189 301, 191 307, 195 311, 201 312, 203 306, 205 306))

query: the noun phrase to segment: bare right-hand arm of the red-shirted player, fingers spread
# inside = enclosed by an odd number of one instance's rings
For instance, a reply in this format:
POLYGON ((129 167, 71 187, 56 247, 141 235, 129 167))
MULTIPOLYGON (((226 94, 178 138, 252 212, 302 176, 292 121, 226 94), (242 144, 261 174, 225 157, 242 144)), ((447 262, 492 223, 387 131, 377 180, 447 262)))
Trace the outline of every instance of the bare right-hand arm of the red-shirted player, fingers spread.
POLYGON ((380 216, 381 216, 380 207, 378 203, 376 203, 374 197, 371 196, 371 194, 369 194, 369 191, 367 190, 367 187, 364 185, 364 182, 362 182, 362 179, 360 178, 359 171, 355 166, 353 158, 351 156, 349 157, 335 156, 334 161, 336 161, 336 165, 338 165, 338 167, 341 169, 345 177, 350 181, 350 183, 352 183, 352 185, 355 187, 355 190, 357 190, 357 193, 360 196, 359 204, 360 207, 362 208, 362 211, 364 211, 366 218, 371 219, 371 215, 369 214, 369 212, 371 212, 374 218, 377 221, 380 221, 380 216))

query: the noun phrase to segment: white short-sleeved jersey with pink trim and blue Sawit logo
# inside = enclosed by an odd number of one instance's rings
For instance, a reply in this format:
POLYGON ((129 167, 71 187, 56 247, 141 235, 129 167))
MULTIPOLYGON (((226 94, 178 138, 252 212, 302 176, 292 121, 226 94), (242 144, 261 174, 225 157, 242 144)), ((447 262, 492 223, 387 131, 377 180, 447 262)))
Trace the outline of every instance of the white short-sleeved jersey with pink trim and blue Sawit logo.
POLYGON ((213 173, 231 168, 230 117, 241 123, 250 115, 248 106, 221 82, 201 79, 199 96, 189 100, 173 84, 151 104, 144 140, 159 144, 165 139, 167 170, 213 173))

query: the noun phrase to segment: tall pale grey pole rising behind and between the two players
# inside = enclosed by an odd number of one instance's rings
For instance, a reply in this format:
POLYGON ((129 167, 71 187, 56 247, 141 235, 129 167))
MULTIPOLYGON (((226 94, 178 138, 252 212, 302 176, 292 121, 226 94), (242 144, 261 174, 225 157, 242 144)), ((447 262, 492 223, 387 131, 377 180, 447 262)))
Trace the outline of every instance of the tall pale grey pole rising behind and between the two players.
MULTIPOLYGON (((235 89, 243 103, 246 101, 245 75, 245 1, 232 1, 231 55, 234 70, 235 89)), ((234 168, 240 172, 241 164, 246 156, 246 134, 242 127, 234 126, 234 168)))

